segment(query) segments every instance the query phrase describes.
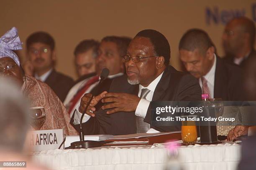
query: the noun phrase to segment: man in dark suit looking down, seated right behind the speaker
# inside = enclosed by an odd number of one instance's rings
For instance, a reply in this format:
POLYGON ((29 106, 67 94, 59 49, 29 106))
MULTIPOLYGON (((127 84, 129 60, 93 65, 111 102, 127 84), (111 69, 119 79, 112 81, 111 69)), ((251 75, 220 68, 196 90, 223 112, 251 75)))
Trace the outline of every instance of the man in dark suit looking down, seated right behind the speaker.
POLYGON ((203 94, 222 100, 243 100, 242 70, 215 55, 215 45, 200 29, 188 30, 179 42, 180 59, 195 76, 203 94))

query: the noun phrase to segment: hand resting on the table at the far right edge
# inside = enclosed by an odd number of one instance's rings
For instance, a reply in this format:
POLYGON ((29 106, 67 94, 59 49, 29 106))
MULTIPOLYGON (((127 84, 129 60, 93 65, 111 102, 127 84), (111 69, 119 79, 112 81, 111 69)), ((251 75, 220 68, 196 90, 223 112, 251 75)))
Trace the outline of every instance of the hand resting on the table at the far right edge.
POLYGON ((228 141, 232 141, 242 135, 248 135, 248 128, 249 126, 236 125, 235 128, 229 131, 227 137, 228 141))

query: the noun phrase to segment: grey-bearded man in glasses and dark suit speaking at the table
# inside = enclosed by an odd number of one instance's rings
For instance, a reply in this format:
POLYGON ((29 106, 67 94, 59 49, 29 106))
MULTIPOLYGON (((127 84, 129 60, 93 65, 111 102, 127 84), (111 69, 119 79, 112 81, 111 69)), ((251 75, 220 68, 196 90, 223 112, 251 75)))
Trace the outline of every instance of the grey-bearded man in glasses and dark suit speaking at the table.
MULTIPOLYGON (((149 128, 180 130, 150 125, 152 101, 201 100, 201 88, 195 77, 169 66, 170 46, 166 37, 156 30, 139 32, 123 60, 127 75, 115 78, 110 92, 94 97, 86 112, 91 117, 84 122, 84 133, 125 135, 143 133, 149 128), (100 100, 106 103, 102 110, 90 112, 100 100)), ((89 97, 87 94, 82 98, 80 111, 89 97)))

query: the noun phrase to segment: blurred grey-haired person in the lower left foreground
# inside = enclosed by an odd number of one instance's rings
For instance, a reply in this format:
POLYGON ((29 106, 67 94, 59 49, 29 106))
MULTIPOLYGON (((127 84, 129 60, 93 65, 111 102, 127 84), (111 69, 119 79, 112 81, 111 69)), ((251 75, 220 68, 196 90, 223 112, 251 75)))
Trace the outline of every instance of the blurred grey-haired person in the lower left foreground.
MULTIPOLYGON (((29 102, 12 80, 0 77, 0 161, 26 161, 26 170, 45 170, 26 155, 29 102)), ((16 169, 16 168, 1 168, 16 169)))

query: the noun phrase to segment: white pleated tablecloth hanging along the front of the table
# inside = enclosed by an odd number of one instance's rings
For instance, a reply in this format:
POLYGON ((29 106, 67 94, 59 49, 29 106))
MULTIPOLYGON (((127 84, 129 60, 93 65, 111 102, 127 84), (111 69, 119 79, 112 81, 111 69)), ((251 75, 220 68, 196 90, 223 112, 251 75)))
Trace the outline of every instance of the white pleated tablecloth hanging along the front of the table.
MULTIPOLYGON (((56 149, 33 153, 32 158, 56 170, 162 170, 167 150, 153 147, 56 149)), ((184 170, 236 170, 240 149, 235 143, 189 145, 181 146, 178 154, 184 170)))

